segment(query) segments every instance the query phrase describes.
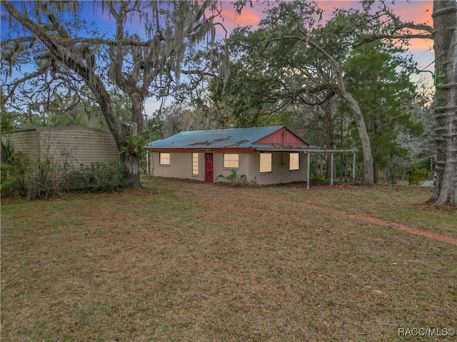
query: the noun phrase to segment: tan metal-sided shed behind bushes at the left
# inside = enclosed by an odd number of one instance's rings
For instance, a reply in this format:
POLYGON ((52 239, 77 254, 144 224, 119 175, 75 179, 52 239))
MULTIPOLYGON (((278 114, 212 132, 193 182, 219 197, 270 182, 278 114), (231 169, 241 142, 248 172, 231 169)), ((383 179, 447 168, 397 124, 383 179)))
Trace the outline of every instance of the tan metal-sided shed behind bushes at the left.
POLYGON ((111 133, 95 128, 69 126, 16 130, 2 137, 14 152, 36 160, 50 158, 64 167, 119 160, 111 133))

